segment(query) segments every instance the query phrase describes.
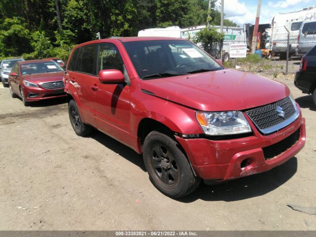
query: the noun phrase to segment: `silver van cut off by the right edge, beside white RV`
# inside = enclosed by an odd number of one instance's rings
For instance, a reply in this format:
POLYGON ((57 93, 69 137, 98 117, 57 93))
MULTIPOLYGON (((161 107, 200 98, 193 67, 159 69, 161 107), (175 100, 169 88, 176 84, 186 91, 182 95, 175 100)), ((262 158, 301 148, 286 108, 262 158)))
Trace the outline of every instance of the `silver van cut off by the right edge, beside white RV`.
POLYGON ((295 55, 303 56, 316 45, 316 20, 304 21, 300 27, 295 55))

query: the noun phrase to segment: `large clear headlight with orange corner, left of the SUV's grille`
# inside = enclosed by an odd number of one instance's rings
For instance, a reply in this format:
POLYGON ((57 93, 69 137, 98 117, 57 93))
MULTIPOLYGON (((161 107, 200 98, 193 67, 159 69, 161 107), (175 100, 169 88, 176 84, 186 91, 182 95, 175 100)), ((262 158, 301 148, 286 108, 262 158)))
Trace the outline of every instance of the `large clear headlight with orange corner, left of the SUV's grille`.
POLYGON ((231 135, 251 132, 242 112, 197 112, 197 121, 207 135, 231 135))

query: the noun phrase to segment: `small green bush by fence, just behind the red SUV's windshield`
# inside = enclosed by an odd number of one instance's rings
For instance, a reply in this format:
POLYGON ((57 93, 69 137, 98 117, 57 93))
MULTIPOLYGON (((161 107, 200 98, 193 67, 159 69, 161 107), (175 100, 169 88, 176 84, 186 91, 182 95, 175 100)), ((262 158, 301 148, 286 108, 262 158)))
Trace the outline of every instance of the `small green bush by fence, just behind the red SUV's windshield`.
POLYGON ((207 49, 213 42, 218 42, 224 39, 224 33, 218 33, 215 28, 204 28, 197 32, 193 38, 194 43, 200 43, 202 48, 207 49))

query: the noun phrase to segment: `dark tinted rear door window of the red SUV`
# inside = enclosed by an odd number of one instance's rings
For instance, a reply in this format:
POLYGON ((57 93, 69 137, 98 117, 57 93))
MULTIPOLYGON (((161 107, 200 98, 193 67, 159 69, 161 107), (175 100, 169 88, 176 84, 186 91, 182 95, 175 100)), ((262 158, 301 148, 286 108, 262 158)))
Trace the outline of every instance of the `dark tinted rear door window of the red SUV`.
POLYGON ((80 72, 96 75, 97 45, 82 48, 80 72))

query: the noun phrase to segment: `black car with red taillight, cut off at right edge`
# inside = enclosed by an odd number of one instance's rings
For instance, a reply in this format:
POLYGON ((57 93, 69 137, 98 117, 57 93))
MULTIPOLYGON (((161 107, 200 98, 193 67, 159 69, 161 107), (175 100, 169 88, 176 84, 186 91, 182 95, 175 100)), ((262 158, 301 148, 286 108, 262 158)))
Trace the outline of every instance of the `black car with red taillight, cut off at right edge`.
POLYGON ((316 105, 316 45, 302 57, 294 84, 303 93, 312 94, 316 105))

